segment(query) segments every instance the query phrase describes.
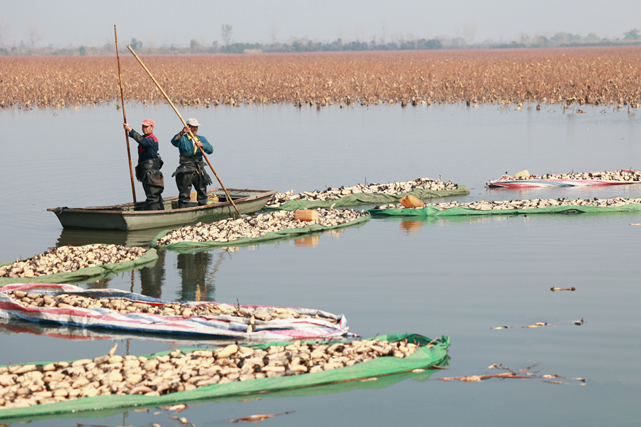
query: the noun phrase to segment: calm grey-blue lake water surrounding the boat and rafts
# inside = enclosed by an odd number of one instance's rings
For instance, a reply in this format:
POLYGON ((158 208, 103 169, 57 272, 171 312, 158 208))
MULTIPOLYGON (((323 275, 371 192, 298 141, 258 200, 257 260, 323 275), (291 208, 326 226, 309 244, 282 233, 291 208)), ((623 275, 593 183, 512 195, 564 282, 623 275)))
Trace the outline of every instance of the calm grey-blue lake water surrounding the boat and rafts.
MULTIPOLYGON (((572 114, 534 105, 523 110, 334 105, 217 107, 181 110, 197 117, 214 146, 210 157, 232 188, 311 191, 328 186, 407 181, 419 176, 461 183, 459 201, 537 197, 641 196, 641 186, 488 189, 509 172, 593 172, 641 169, 641 114, 587 108, 572 114)), ((156 122, 165 161, 165 196, 180 130, 165 105, 128 106, 130 123, 156 122)), ((131 201, 122 129, 114 105, 80 110, 0 112, 0 260, 41 253, 58 244, 142 243, 150 236, 63 232, 56 206, 131 201)), ((135 125, 138 129, 140 126, 135 125)), ((132 147, 135 156, 135 147, 132 147)), ((134 159, 135 162, 135 159, 134 159)), ((137 198, 144 199, 137 183, 137 198)), ((118 288, 166 299, 314 307, 345 314, 363 337, 414 332, 449 335, 444 376, 494 374, 539 364, 543 374, 585 378, 585 386, 521 379, 480 383, 405 379, 383 388, 332 394, 264 396, 201 404, 183 411, 197 426, 283 413, 278 426, 637 426, 641 416, 641 223, 638 214, 372 219, 316 238, 238 251, 167 251, 153 268, 120 273, 85 288, 118 288), (550 288, 575 287, 575 292, 550 288), (585 320, 577 326, 572 321, 585 320), (533 322, 556 325, 538 329, 533 322)), ((117 354, 180 347, 136 337, 64 339, 55 330, 2 324, 0 364, 96 357, 118 342, 117 354)), ((204 343, 207 344, 207 343, 204 343)), ((536 369, 533 369, 536 370, 536 369)), ((393 382, 393 381, 392 381, 393 382)), ((33 421, 34 426, 174 426, 174 413, 152 408, 101 419, 33 421)))

